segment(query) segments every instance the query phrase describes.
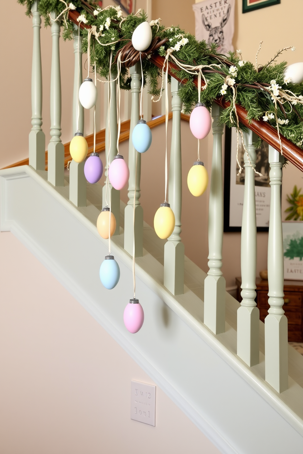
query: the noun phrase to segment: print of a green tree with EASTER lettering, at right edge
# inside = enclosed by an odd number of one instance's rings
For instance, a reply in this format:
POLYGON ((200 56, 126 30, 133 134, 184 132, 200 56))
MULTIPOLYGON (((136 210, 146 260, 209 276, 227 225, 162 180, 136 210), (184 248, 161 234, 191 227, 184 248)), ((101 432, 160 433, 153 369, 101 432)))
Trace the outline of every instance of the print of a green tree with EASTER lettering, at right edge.
POLYGON ((303 281, 303 221, 282 222, 284 279, 303 281))

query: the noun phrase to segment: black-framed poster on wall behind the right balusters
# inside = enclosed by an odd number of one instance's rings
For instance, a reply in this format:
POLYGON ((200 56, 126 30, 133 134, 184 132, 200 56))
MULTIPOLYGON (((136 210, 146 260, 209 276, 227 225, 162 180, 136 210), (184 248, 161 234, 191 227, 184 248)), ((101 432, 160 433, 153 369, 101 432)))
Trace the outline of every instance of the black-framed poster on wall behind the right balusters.
MULTIPOLYGON (((257 214, 257 231, 268 232, 270 186, 268 143, 262 142, 256 150, 256 170, 262 177, 255 175, 255 197, 257 214)), ((237 164, 237 129, 225 130, 225 160, 224 160, 224 232, 241 232, 243 200, 244 200, 244 148, 239 137, 238 160, 243 170, 238 175, 237 164)))

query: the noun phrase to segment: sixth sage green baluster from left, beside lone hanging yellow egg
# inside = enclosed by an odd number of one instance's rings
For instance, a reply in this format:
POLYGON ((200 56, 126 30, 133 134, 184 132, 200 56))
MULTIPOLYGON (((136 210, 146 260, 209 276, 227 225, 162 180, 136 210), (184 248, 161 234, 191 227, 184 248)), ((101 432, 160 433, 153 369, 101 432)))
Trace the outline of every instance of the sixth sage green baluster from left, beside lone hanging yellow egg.
POLYGON ((184 293, 184 244, 181 242, 182 163, 181 163, 181 109, 178 96, 180 84, 171 79, 172 141, 169 160, 169 204, 174 212, 174 232, 164 246, 164 286, 173 294, 184 293))

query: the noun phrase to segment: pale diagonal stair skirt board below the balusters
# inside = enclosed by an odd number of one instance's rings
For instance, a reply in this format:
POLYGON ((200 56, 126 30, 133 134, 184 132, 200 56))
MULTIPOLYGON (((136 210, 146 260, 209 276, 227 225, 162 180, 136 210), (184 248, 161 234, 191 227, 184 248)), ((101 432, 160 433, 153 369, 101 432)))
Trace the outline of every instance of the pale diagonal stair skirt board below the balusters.
POLYGON ((68 183, 54 188, 46 172, 10 168, 0 171, 0 180, 1 231, 28 247, 222 453, 303 452, 298 352, 289 347, 289 389, 279 395, 264 380, 263 323, 260 364, 249 368, 236 355, 238 302, 226 294, 226 332, 215 336, 203 324, 206 274, 185 257, 184 295, 172 296, 163 286, 163 242, 146 224, 144 254, 136 260, 136 296, 145 320, 139 333, 130 334, 123 311, 133 296, 132 260, 122 228, 112 241, 120 281, 108 291, 99 280, 108 254, 95 227, 101 186, 88 186, 87 207, 77 208, 68 200, 68 183), (153 247, 160 262, 149 253, 153 247))

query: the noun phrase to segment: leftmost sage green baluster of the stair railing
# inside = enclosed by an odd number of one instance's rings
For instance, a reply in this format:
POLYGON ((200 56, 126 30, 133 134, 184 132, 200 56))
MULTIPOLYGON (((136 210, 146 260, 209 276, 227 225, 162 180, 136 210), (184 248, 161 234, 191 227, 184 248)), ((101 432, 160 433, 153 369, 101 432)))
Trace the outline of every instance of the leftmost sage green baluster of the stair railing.
POLYGON ((33 15, 33 62, 31 71, 31 124, 29 135, 29 164, 35 170, 45 170, 45 133, 42 131, 42 68, 40 28, 41 17, 38 12, 38 1, 34 1, 33 15))

